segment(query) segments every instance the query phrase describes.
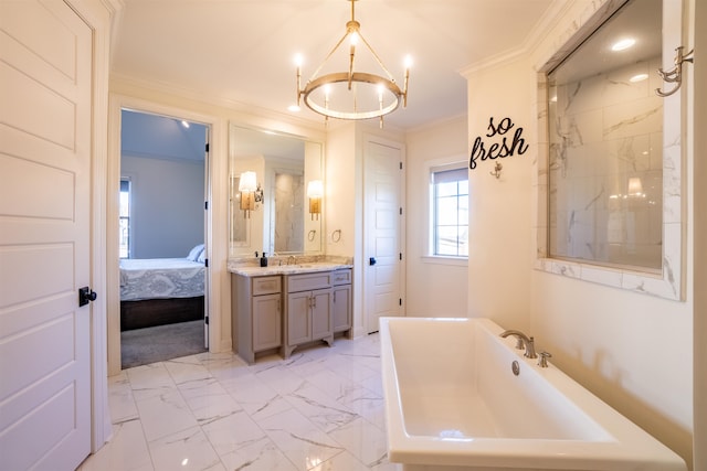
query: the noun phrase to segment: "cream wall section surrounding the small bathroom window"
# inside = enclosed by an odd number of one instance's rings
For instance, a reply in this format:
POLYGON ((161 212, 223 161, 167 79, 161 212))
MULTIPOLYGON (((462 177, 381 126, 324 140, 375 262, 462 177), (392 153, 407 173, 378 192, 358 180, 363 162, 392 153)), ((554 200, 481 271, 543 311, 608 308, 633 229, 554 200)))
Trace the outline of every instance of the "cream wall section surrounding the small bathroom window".
POLYGON ((466 116, 407 135, 407 315, 466 317, 467 264, 425 258, 428 169, 431 164, 466 162, 466 116))

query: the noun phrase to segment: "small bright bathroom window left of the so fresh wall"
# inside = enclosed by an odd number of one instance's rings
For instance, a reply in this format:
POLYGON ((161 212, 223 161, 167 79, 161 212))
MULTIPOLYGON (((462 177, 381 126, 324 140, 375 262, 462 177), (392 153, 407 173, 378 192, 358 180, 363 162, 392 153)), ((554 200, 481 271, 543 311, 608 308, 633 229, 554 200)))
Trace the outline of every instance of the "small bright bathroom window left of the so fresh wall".
POLYGON ((430 169, 430 253, 468 257, 468 170, 462 164, 430 169))

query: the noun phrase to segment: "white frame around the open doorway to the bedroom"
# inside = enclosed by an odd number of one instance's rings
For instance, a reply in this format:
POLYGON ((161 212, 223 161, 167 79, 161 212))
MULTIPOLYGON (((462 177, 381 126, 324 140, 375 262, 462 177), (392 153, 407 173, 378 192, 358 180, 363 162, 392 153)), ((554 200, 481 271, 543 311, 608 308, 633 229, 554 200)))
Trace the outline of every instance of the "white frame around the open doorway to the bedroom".
MULTIPOLYGON (((209 351, 219 352, 222 350, 222 319, 221 319, 221 283, 218 281, 220 277, 214 268, 218 260, 224 259, 224 255, 218 249, 220 239, 215 233, 220 227, 214 227, 218 218, 213 217, 217 213, 217 204, 214 204, 214 193, 218 194, 219 185, 215 176, 220 171, 217 163, 217 154, 221 154, 222 136, 225 136, 225 125, 213 116, 193 113, 188 109, 173 106, 160 105, 154 101, 135 98, 120 94, 109 94, 108 97, 108 171, 106 182, 106 193, 108 195, 107 221, 106 221, 106 300, 107 300, 107 364, 108 376, 119 374, 120 367, 120 282, 119 282, 119 254, 118 254, 118 199, 113 197, 119 192, 120 180, 120 120, 123 109, 133 109, 140 113, 154 115, 162 115, 169 117, 179 117, 192 122, 199 122, 207 126, 209 136, 209 162, 205 165, 205 196, 209 201, 209 210, 205 212, 205 239, 204 244, 209 250, 209 267, 207 268, 207 277, 210 282, 205 283, 205 310, 209 313, 209 351)), ((215 199, 219 200, 219 199, 215 199)), ((217 213, 219 214, 219 213, 217 213)), ((225 227, 222 228, 225 232, 225 227)))

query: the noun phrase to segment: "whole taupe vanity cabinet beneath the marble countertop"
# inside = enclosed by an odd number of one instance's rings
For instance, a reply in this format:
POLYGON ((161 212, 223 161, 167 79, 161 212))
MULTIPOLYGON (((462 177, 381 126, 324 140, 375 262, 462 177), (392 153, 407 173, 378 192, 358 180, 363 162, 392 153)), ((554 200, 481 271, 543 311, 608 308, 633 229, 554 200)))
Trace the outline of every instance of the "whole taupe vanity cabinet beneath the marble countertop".
MULTIPOLYGON (((321 264, 326 265, 326 264, 321 264)), ((233 351, 247 363, 352 333, 350 265, 229 267, 233 351)))

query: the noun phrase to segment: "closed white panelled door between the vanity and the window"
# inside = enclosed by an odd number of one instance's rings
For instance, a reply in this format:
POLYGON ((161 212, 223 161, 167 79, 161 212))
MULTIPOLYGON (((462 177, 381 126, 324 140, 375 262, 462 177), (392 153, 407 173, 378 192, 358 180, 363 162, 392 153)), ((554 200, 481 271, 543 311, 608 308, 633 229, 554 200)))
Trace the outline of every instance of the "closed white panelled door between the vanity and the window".
POLYGON ((402 311, 401 178, 402 150, 392 144, 366 142, 363 306, 366 328, 378 331, 383 315, 402 311))

